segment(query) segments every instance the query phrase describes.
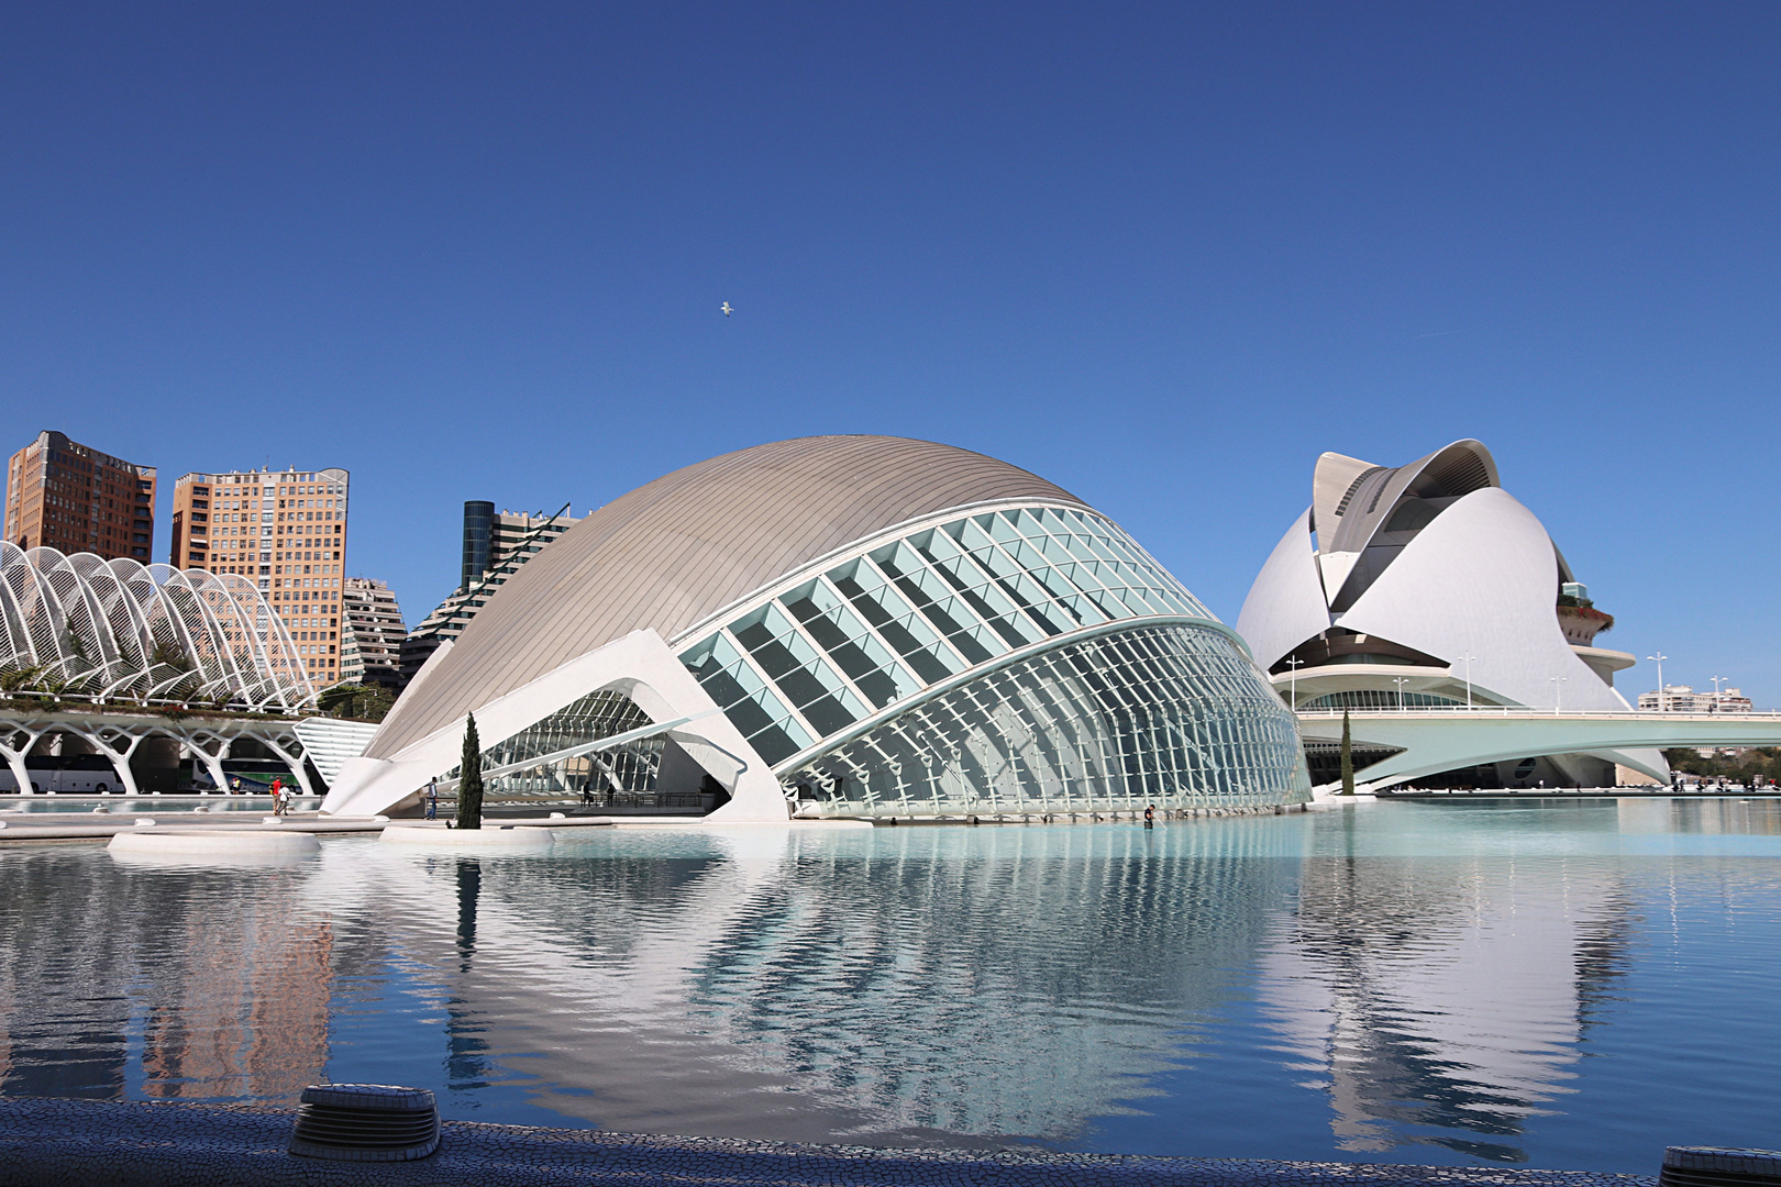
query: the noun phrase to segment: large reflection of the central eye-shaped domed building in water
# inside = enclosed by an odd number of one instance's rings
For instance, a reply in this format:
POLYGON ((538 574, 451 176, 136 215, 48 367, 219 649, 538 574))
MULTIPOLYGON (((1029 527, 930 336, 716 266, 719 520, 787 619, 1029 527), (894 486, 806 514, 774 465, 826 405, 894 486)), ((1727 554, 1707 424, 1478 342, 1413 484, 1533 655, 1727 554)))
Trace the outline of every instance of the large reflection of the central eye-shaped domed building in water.
POLYGON ((358 868, 388 902, 456 892, 456 934, 385 920, 431 970, 454 1082, 483 1075, 461 1057, 486 1057, 506 1070, 488 1077, 524 1075, 538 1103, 613 1128, 1065 1139, 1191 1057, 1288 902, 1245 865, 1295 844, 1265 828, 627 829, 484 861, 472 899, 458 860, 358 868))

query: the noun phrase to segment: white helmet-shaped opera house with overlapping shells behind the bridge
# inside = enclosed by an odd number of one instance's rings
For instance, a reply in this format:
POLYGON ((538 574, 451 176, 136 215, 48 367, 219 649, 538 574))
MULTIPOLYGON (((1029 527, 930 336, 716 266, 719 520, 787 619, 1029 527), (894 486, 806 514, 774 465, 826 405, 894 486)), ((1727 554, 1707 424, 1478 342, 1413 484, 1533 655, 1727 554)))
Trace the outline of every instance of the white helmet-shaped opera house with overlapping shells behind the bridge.
MULTIPOLYGON (((1612 680, 1633 657, 1592 646, 1612 619, 1565 600, 1571 582, 1482 443, 1396 468, 1323 454, 1313 505, 1257 575, 1238 632, 1300 710, 1626 710, 1612 680)), ((1669 774, 1656 751, 1590 756, 1669 774)), ((1578 762, 1553 762, 1548 778, 1582 778, 1578 762)))

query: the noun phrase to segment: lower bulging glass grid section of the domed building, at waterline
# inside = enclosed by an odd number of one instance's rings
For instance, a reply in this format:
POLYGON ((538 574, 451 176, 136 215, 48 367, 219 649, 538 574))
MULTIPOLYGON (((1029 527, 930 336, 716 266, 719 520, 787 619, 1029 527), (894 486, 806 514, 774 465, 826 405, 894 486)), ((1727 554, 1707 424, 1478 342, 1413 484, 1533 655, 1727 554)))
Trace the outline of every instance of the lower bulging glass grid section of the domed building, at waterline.
POLYGON ((1170 623, 990 671, 782 776, 825 815, 1067 813, 1311 797, 1298 730, 1222 632, 1170 623))

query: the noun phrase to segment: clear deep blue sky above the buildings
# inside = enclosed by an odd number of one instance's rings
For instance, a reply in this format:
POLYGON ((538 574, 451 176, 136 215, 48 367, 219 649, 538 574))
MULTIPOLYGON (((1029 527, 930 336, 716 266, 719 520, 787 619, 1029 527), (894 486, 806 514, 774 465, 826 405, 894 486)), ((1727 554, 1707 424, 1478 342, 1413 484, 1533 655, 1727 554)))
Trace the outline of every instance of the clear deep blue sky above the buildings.
POLYGON ((1234 619, 1322 450, 1476 436, 1605 644, 1781 705, 1777 62, 1776 4, 14 4, 0 445, 159 466, 157 561, 178 473, 347 466, 413 623, 465 498, 921 436, 1234 619))

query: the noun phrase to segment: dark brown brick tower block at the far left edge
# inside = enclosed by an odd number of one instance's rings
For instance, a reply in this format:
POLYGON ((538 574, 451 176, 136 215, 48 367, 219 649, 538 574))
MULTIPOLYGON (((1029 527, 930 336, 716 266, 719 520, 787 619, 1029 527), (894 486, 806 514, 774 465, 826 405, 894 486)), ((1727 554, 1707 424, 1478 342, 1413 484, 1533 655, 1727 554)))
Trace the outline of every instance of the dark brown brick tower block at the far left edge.
POLYGON ((7 463, 5 539, 27 550, 91 552, 148 564, 155 468, 46 429, 7 463))

